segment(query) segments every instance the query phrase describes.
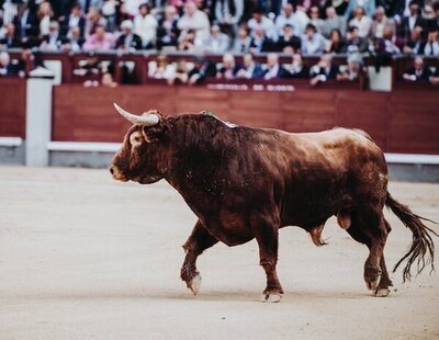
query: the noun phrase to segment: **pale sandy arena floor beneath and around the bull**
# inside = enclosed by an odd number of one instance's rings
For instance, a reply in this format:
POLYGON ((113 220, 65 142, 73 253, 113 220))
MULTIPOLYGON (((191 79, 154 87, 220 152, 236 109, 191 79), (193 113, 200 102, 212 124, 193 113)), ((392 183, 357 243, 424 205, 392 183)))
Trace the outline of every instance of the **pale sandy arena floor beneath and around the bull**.
MULTIPOLYGON (((439 220, 439 185, 392 183, 390 191, 439 220)), ((412 236, 387 216, 391 267, 412 236)), ((194 297, 179 279, 180 246, 194 222, 165 182, 1 167, 0 339, 439 338, 438 274, 402 284, 398 271, 390 297, 371 297, 362 279, 367 248, 334 218, 326 247, 299 228, 280 233, 280 304, 258 302, 264 274, 256 241, 207 250, 194 297)))

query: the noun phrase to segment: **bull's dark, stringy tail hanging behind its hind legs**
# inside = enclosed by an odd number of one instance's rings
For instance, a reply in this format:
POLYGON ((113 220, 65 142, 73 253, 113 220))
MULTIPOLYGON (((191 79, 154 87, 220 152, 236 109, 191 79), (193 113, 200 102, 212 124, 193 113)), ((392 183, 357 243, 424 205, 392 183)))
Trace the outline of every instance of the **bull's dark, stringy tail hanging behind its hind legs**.
MULTIPOLYGON (((412 264, 417 262, 417 274, 419 274, 428 264, 431 265, 431 271, 435 270, 435 243, 431 239, 432 235, 439 236, 436 231, 428 228, 421 220, 430 219, 420 217, 414 214, 408 206, 395 201, 387 192, 385 205, 403 222, 403 224, 413 233, 413 243, 408 252, 395 264, 393 272, 399 264, 407 259, 407 264, 404 268, 403 280, 410 280, 412 264)), ((436 223, 435 223, 436 224, 436 223)))

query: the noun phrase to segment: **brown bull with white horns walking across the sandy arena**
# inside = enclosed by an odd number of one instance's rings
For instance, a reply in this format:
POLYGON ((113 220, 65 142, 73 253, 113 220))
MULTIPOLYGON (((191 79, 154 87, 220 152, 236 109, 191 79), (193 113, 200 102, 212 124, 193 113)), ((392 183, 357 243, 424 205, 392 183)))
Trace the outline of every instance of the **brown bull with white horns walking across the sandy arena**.
MULTIPOLYGON (((290 134, 224 123, 206 114, 164 117, 116 110, 134 123, 110 171, 115 180, 140 184, 167 180, 199 220, 184 243, 181 279, 194 294, 201 276, 196 258, 222 241, 237 246, 256 238, 267 274, 263 298, 279 302, 277 274, 279 229, 299 226, 317 246, 325 222, 337 216, 340 227, 369 248, 364 281, 375 296, 386 296, 392 281, 383 249, 391 226, 384 205, 413 231, 413 245, 396 263, 407 260, 404 280, 418 262, 434 265, 434 242, 421 223, 387 192, 382 150, 363 132, 335 128, 290 134)), ((419 267, 420 264, 420 267, 419 267)))

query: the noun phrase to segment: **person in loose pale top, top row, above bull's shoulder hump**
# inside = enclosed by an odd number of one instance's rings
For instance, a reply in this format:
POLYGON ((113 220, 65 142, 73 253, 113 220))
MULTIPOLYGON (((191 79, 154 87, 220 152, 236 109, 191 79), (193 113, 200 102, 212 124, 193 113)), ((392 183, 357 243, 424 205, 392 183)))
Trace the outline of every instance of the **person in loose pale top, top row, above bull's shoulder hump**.
POLYGON ((211 24, 206 13, 200 11, 193 1, 184 5, 184 15, 177 23, 179 30, 185 35, 188 31, 193 31, 198 41, 203 42, 209 37, 211 24))

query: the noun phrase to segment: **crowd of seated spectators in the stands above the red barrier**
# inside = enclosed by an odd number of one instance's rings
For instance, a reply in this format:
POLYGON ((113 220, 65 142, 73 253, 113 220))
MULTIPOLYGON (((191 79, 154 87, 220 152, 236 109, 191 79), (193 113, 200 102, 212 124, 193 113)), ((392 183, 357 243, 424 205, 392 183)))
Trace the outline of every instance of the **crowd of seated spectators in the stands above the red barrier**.
POLYGON ((357 78, 364 54, 378 69, 397 54, 439 57, 438 0, 0 0, 0 48, 157 49, 162 56, 149 73, 169 82, 303 77, 316 84, 357 78), (224 58, 188 71, 185 60, 166 65, 169 50, 224 58), (258 53, 268 53, 266 65, 252 61, 258 53), (292 56, 289 67, 279 53, 292 56), (330 63, 339 53, 348 55, 342 70, 330 63), (243 65, 235 54, 246 54, 243 65), (307 55, 322 58, 305 70, 307 55))

